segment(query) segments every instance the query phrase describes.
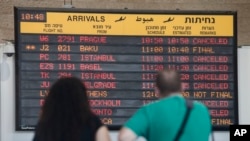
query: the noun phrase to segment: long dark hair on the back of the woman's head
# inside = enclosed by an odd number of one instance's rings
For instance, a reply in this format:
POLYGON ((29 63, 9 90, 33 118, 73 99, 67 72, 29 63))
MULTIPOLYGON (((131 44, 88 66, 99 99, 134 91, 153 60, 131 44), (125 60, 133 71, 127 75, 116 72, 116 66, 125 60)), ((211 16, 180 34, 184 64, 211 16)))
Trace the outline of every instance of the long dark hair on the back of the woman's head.
POLYGON ((44 141, 75 141, 92 115, 86 88, 80 79, 58 79, 50 88, 42 107, 38 135, 44 141))

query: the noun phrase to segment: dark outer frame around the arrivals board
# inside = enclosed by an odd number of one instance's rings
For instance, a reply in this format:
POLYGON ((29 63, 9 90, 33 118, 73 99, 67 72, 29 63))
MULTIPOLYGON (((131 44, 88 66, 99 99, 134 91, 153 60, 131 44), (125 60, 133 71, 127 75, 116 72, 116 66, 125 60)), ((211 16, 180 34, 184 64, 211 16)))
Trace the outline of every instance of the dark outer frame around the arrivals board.
MULTIPOLYGON (((233 29, 233 40, 234 40, 234 55, 233 55, 233 69, 234 69, 234 120, 235 124, 238 124, 239 118, 238 118, 238 77, 237 77, 237 12, 235 11, 166 11, 166 10, 119 10, 119 9, 110 9, 110 10, 105 10, 105 9, 63 9, 63 8, 26 8, 26 7, 15 7, 14 8, 14 18, 15 18, 15 49, 16 49, 16 57, 15 57, 15 65, 16 65, 16 70, 15 70, 15 75, 16 75, 16 130, 17 131, 23 131, 20 128, 20 88, 19 88, 19 83, 20 82, 20 74, 19 74, 19 43, 20 43, 20 24, 18 21, 18 14, 20 11, 29 11, 29 10, 39 10, 39 11, 44 11, 44 12, 65 12, 65 13, 115 13, 115 14, 174 14, 174 15, 232 15, 233 20, 234 20, 234 29, 233 29)), ((226 23, 225 23, 226 24, 226 23)), ((160 36, 160 35, 159 35, 160 36)), ((195 37, 195 36, 194 36, 195 37)), ((120 129, 121 126, 109 126, 111 130, 118 130, 120 129)), ((26 129, 25 129, 26 130, 26 129)), ((32 129, 27 129, 27 130, 34 130, 32 129)), ((213 128, 215 131, 225 131, 229 130, 229 128, 213 128)))

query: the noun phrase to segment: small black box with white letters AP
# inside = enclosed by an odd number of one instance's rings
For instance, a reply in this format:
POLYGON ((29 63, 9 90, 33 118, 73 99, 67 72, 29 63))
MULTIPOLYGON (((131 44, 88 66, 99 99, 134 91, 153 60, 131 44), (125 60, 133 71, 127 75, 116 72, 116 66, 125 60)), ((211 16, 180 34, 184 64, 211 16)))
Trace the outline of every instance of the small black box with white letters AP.
POLYGON ((249 141, 250 125, 230 125, 230 141, 249 141))

